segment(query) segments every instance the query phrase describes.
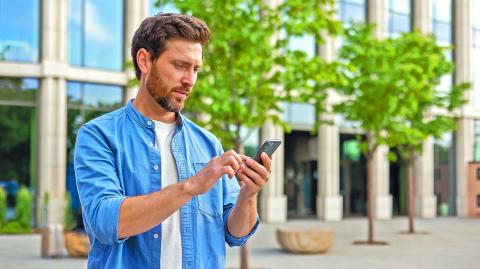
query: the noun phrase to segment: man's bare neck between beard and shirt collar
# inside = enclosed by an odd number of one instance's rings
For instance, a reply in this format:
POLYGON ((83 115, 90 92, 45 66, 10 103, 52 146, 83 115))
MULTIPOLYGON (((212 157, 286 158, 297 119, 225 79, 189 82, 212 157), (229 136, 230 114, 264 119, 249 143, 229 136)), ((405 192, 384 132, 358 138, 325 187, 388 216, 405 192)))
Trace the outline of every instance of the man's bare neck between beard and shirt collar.
POLYGON ((135 100, 133 100, 133 106, 145 117, 155 121, 172 123, 176 120, 175 112, 170 112, 160 106, 148 93, 147 89, 142 89, 142 87, 138 90, 135 100))

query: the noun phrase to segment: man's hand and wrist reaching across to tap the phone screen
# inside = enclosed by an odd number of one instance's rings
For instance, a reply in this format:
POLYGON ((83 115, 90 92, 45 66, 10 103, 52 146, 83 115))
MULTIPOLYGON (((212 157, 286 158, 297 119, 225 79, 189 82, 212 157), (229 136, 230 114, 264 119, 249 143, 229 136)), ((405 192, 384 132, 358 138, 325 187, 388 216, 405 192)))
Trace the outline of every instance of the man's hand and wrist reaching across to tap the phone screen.
POLYGON ((210 160, 205 167, 193 177, 185 181, 186 191, 194 196, 209 191, 215 183, 225 174, 229 178, 235 176, 240 168, 242 158, 234 150, 229 150, 221 156, 210 160))

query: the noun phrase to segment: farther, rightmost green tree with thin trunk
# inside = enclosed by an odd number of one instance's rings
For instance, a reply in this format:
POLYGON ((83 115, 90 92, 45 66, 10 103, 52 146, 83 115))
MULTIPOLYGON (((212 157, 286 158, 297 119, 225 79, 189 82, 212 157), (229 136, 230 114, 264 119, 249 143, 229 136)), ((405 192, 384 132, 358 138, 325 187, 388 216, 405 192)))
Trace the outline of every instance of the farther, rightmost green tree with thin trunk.
POLYGON ((397 105, 395 124, 391 125, 388 145, 397 146, 399 157, 407 162, 408 233, 414 228, 414 159, 423 151, 429 137, 440 138, 456 128, 452 112, 466 102, 465 91, 469 83, 454 85, 448 91, 439 90, 440 79, 451 75, 453 63, 445 57, 450 48, 437 45, 431 35, 415 31, 393 40, 398 54, 392 81, 393 91, 401 98, 397 105), (441 111, 432 115, 432 111, 441 111))

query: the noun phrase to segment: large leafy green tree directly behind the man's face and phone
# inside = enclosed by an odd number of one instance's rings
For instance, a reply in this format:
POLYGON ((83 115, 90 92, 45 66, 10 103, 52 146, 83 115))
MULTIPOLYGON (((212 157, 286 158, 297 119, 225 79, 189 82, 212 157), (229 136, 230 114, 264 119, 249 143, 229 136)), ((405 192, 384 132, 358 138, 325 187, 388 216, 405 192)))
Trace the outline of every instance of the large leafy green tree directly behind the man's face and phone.
MULTIPOLYGON (((202 72, 186 109, 199 124, 217 135, 225 148, 244 152, 252 130, 267 121, 288 130, 281 103, 308 101, 323 111, 326 89, 336 79, 334 63, 292 49, 292 37, 338 34, 333 0, 285 0, 278 6, 262 0, 158 1, 172 3, 182 13, 204 20, 212 38, 204 48, 202 72), (203 120, 202 120, 203 119, 203 120)), ((312 44, 313 45, 313 44, 312 44)), ((242 248, 242 268, 248 268, 242 248)))

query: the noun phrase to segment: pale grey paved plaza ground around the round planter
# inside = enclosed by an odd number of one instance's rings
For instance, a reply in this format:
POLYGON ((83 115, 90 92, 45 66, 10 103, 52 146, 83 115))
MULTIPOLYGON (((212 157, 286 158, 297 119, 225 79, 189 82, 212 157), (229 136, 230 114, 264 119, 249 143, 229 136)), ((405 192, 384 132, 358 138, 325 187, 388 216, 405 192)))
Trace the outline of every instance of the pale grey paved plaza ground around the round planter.
MULTIPOLYGON (((286 224, 262 224, 250 241, 253 268, 355 268, 355 269, 474 269, 480 268, 480 218, 437 218, 416 220, 419 231, 429 234, 400 234, 407 227, 406 218, 376 221, 376 239, 388 246, 353 245, 366 238, 365 218, 341 222, 315 220, 290 221, 286 224), (323 228, 335 232, 330 251, 321 255, 294 255, 280 249, 275 238, 277 227, 323 228)), ((227 267, 239 267, 239 248, 227 248, 227 267)), ((86 268, 85 259, 41 259, 40 236, 0 235, 0 268, 86 268)))

